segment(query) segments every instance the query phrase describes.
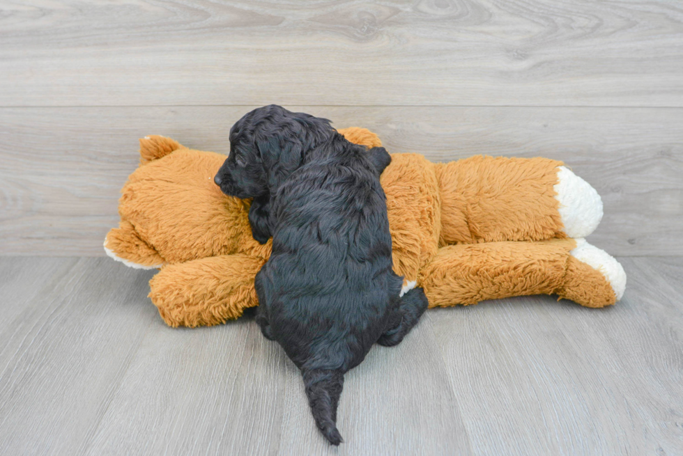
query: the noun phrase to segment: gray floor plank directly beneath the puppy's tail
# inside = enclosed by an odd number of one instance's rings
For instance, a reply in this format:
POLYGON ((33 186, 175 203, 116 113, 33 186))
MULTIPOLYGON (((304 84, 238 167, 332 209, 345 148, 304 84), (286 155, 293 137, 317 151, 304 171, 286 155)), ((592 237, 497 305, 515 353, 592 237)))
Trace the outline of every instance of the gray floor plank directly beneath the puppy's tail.
POLYGON ((396 347, 371 349, 344 379, 330 448, 310 417, 301 375, 287 363, 278 455, 470 455, 459 398, 450 388, 430 322, 420 322, 396 347))

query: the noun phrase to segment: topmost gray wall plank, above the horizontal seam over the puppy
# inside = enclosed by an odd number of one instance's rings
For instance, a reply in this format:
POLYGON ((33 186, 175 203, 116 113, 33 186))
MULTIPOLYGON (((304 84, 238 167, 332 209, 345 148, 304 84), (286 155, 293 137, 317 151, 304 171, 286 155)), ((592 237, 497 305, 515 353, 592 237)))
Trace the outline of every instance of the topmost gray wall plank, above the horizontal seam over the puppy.
POLYGON ((683 107, 667 0, 2 0, 0 106, 683 107))

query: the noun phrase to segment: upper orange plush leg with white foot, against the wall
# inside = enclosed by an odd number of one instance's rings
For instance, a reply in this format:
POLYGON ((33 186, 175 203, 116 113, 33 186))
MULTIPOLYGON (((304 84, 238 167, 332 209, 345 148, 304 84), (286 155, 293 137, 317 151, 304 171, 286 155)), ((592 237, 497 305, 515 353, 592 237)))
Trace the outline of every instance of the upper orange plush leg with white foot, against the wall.
POLYGON ((562 162, 470 157, 436 164, 440 245, 585 237, 602 218, 602 201, 562 162))

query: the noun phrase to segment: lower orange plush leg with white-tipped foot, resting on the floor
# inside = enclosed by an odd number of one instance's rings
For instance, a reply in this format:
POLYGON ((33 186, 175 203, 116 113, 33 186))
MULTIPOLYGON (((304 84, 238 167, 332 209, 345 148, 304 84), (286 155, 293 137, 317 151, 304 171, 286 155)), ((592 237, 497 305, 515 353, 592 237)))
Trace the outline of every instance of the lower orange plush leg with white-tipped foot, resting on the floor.
POLYGON ((625 284, 621 265, 583 239, 446 246, 418 280, 430 307, 528 294, 604 307, 620 299, 625 284))

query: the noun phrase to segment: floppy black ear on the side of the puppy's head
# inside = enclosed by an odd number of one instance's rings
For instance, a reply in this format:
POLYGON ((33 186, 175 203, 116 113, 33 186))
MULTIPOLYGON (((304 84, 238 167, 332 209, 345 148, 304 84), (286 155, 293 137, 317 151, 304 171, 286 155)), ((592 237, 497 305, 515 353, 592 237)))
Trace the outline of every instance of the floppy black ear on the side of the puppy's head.
POLYGON ((296 137, 268 135, 256 138, 263 169, 272 194, 303 162, 303 144, 296 137))

